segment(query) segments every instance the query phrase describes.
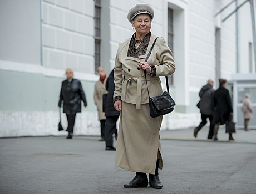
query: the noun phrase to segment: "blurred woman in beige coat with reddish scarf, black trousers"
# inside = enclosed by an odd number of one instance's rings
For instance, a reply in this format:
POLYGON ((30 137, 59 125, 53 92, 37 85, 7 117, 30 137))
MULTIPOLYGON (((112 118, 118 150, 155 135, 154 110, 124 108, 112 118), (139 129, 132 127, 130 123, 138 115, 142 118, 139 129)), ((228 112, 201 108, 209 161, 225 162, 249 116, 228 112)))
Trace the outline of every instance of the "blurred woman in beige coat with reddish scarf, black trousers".
POLYGON ((98 116, 101 128, 101 139, 99 141, 105 141, 105 126, 106 126, 106 116, 102 108, 102 95, 107 93, 106 90, 106 80, 107 74, 104 67, 98 67, 97 73, 100 75, 100 80, 95 83, 94 86, 94 102, 97 106, 98 116))

